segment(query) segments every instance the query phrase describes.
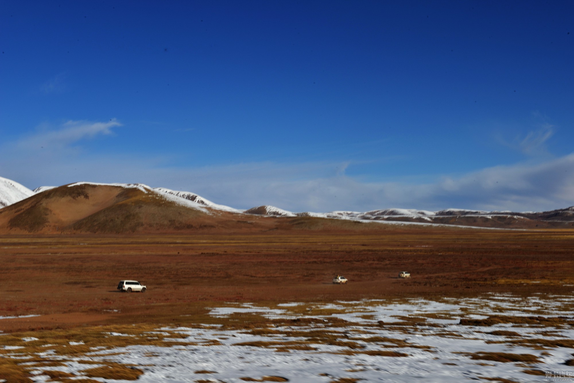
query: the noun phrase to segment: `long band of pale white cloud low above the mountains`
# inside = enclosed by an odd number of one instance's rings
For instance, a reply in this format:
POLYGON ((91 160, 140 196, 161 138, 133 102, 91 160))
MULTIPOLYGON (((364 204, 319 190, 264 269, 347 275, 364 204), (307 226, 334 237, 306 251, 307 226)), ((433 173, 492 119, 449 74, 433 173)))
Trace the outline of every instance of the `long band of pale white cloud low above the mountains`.
POLYGON ((144 154, 102 156, 71 149, 82 139, 110 135, 120 125, 116 120, 71 121, 56 131, 7 143, 0 151, 0 176, 32 188, 76 181, 143 182, 193 191, 236 208, 269 204, 297 212, 391 207, 516 211, 574 205, 574 154, 484 168, 460 177, 437 175, 431 182, 363 182, 345 175, 348 162, 166 167, 163 158, 144 154), (38 150, 41 144, 58 150, 38 150))

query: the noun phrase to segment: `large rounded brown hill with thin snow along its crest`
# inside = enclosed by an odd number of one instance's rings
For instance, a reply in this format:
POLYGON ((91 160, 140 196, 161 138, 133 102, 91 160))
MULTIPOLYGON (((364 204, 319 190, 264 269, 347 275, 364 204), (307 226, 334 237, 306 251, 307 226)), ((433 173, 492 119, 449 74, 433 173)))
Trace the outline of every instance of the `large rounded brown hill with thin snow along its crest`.
POLYGON ((0 233, 130 233, 232 224, 234 215, 193 209, 142 187, 60 186, 0 209, 0 233))

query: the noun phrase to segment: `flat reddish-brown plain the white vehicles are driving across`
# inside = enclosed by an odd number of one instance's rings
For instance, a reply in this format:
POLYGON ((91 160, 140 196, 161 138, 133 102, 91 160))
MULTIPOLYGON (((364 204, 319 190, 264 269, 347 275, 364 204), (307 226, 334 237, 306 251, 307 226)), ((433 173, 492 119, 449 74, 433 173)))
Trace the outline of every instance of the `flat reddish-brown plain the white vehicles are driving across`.
POLYGON ((565 230, 1 236, 0 316, 41 316, 0 330, 182 323, 222 301, 571 293, 573 249, 565 230), (333 285, 336 274, 350 282, 333 285), (121 279, 148 291, 119 293, 121 279))

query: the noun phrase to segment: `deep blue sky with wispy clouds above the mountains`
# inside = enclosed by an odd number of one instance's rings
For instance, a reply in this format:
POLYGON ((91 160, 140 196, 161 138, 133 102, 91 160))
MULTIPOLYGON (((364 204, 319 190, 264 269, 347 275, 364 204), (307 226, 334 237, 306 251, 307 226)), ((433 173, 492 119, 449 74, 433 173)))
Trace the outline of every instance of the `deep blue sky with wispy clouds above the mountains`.
POLYGON ((0 176, 236 208, 574 205, 574 3, 3 2, 0 176))

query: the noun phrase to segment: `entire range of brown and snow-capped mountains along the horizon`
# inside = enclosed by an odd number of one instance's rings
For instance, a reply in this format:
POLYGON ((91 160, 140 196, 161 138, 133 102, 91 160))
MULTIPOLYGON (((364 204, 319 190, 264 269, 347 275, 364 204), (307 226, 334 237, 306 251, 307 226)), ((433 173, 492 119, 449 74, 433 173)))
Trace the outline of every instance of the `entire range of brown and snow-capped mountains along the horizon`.
POLYGON ((340 229, 357 228, 356 224, 369 221, 483 228, 572 228, 574 206, 549 212, 384 209, 294 213, 269 205, 235 209, 189 191, 141 183, 78 182, 30 190, 20 183, 0 178, 0 233, 120 233, 209 228, 241 231, 278 227, 340 229))

